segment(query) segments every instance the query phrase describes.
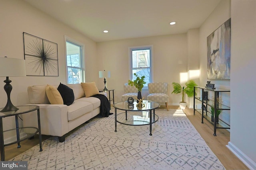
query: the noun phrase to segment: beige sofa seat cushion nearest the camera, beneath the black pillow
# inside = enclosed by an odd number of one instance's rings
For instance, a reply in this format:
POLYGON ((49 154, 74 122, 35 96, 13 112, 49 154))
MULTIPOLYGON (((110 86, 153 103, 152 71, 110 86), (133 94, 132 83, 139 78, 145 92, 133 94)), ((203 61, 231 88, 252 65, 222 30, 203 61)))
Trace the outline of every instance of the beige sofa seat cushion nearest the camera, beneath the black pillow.
POLYGON ((89 102, 81 102, 75 100, 74 103, 68 106, 68 121, 89 113, 93 110, 93 105, 89 102))

